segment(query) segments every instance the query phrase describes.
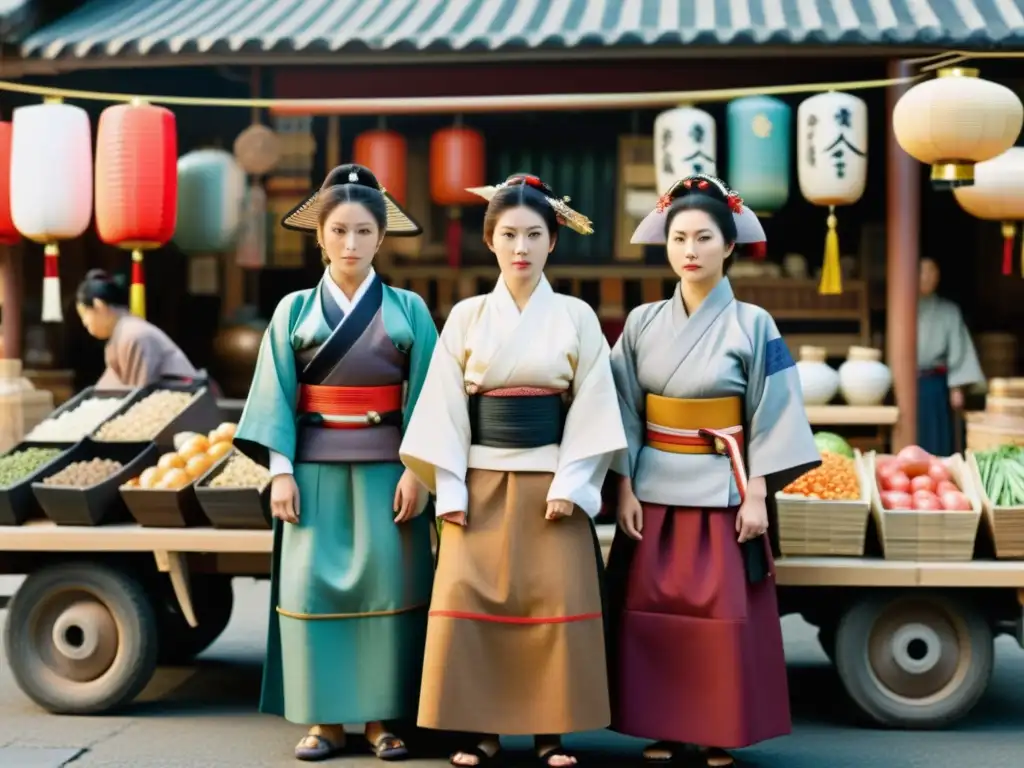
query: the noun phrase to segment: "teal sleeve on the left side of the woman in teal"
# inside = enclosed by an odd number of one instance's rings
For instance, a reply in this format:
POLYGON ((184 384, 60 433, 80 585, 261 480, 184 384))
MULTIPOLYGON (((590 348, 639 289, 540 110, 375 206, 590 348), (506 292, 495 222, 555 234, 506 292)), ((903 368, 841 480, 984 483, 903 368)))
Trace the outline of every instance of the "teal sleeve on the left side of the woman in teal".
POLYGON ((240 451, 264 466, 268 452, 295 461, 295 401, 298 374, 292 327, 302 308, 302 295, 285 297, 263 334, 246 407, 234 433, 240 451))

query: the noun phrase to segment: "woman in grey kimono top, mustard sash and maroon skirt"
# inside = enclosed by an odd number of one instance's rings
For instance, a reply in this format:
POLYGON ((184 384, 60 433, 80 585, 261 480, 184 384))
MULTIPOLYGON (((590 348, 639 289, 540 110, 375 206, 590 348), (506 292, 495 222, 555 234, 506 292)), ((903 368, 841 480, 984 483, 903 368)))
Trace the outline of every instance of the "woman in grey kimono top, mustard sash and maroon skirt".
POLYGON ((820 463, 800 380, 768 312, 736 301, 725 266, 762 243, 711 176, 678 182, 634 243, 667 243, 675 295, 630 312, 611 352, 629 449, 608 561, 612 728, 726 766, 790 732, 768 504, 820 463))

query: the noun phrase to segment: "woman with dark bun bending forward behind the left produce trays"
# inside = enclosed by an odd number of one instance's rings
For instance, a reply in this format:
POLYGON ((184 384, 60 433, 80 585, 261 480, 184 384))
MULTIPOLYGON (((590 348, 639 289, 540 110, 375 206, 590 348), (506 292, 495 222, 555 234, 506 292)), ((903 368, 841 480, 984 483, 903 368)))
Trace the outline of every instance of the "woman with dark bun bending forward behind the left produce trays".
POLYGON ((78 287, 78 316, 93 338, 106 342, 100 389, 144 387, 161 379, 202 374, 171 337, 128 311, 128 289, 102 269, 90 269, 78 287))

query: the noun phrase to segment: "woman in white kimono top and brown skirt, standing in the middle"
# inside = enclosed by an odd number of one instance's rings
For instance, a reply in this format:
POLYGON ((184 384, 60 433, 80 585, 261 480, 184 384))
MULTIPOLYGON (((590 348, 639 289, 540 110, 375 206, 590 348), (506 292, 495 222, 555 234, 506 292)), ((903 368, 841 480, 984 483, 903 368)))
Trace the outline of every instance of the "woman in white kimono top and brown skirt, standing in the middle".
POLYGON ((597 315, 544 266, 559 225, 592 229, 535 176, 473 191, 501 278, 452 309, 400 450, 444 521, 418 722, 479 734, 453 765, 532 734, 569 766, 559 734, 610 717, 591 518, 626 437, 597 315))

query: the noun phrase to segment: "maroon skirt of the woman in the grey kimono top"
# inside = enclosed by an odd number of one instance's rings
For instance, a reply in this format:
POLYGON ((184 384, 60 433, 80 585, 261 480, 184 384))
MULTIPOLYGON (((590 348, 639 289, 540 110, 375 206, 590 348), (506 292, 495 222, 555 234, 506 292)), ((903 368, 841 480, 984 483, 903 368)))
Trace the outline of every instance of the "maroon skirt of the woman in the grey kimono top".
POLYGON ((611 728, 720 749, 790 733, 775 582, 748 582, 736 509, 643 511, 643 540, 616 530, 608 557, 611 728))

